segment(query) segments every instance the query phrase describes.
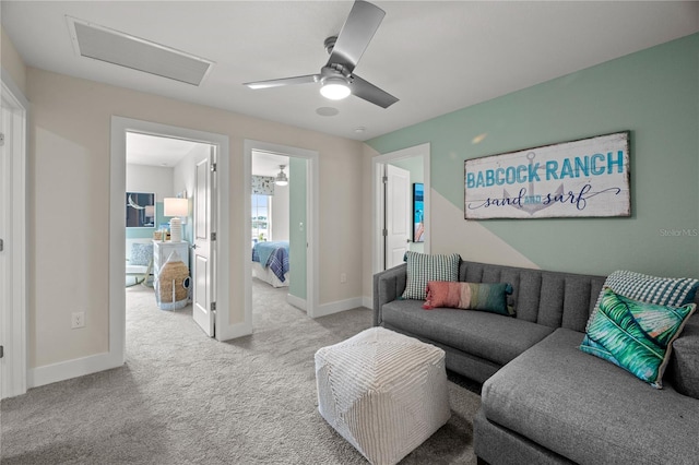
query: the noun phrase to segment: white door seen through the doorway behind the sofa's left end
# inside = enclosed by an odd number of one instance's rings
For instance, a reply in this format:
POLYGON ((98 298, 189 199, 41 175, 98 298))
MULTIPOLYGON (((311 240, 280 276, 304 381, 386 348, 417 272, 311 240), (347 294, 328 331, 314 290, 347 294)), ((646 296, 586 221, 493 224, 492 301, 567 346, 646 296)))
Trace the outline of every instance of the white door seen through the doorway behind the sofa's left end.
POLYGON ((386 166, 386 269, 403 263, 411 238, 411 172, 386 166))

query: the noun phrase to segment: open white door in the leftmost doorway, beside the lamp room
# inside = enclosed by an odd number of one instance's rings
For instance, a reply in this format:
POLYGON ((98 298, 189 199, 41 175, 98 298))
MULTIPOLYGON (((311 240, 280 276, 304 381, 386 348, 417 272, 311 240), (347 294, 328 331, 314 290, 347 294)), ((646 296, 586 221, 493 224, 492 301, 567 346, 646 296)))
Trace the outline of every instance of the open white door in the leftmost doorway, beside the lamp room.
POLYGON ((213 239, 214 220, 213 195, 215 189, 215 147, 212 145, 209 156, 197 163, 194 186, 194 212, 192 246, 192 317, 197 324, 209 336, 214 336, 214 321, 216 310, 214 267, 215 240, 213 239))

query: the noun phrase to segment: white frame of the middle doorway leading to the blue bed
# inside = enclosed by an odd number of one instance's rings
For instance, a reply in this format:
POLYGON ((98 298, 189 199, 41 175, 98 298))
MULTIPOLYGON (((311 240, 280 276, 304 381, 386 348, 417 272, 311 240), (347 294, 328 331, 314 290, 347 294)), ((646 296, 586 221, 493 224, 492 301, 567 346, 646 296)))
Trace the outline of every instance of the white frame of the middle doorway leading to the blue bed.
MULTIPOLYGON (((320 175, 318 167, 318 152, 306 148, 292 147, 287 145, 271 144, 246 139, 244 142, 244 172, 245 186, 244 192, 247 192, 245 202, 245 236, 242 240, 242 257, 250 257, 251 243, 251 178, 252 178, 252 151, 270 152, 289 157, 305 158, 307 165, 307 189, 306 189, 306 237, 308 238, 308 247, 306 249, 306 314, 310 318, 318 315, 319 286, 318 275, 318 242, 320 235, 318 234, 318 186, 320 186, 320 175)), ((250 330, 252 329, 252 261, 244 260, 245 276, 245 322, 250 330)))

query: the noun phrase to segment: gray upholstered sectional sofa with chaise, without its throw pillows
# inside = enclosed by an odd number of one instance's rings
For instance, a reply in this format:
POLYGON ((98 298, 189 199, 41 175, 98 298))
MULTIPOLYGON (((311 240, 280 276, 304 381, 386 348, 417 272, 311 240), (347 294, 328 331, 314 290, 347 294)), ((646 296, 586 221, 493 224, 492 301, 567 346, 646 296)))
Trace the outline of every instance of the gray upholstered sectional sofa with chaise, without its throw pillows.
POLYGON ((656 390, 579 349, 605 276, 462 261, 459 281, 512 285, 514 318, 424 310, 400 299, 406 278, 405 264, 374 276, 374 325, 441 347, 483 383, 479 463, 699 464, 699 314, 656 390))

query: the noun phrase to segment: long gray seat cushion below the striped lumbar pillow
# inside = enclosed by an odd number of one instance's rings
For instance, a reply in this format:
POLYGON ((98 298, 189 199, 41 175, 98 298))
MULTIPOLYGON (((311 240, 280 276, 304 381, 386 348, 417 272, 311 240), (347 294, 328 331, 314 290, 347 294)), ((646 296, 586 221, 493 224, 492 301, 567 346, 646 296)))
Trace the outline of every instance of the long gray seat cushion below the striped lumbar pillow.
POLYGON ((418 300, 383 305, 383 321, 410 334, 505 365, 554 330, 500 314, 436 308, 424 310, 418 300))

